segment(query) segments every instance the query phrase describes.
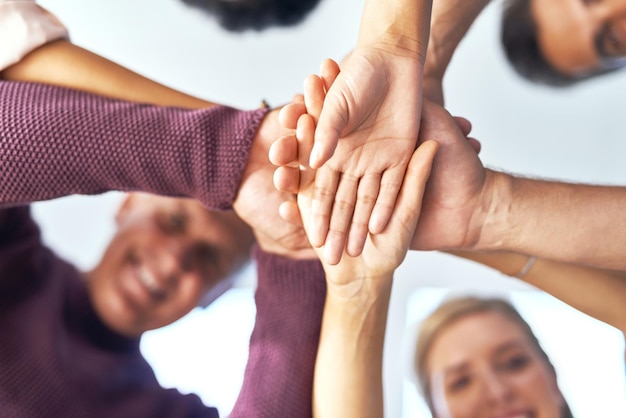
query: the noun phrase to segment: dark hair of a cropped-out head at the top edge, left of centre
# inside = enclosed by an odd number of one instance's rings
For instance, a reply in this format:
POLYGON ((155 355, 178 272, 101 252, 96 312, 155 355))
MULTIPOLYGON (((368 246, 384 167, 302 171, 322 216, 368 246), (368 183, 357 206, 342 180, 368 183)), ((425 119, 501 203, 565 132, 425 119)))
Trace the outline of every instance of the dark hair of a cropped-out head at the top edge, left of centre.
POLYGON ((182 0, 214 16, 232 32, 300 23, 320 0, 182 0))

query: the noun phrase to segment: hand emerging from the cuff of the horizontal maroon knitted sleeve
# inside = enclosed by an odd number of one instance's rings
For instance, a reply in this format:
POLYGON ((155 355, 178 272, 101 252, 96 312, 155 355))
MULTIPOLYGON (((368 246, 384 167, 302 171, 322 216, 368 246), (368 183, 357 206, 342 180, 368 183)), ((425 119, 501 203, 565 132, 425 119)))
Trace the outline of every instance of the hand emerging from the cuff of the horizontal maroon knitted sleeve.
POLYGON ((233 208, 253 228, 263 250, 291 258, 312 258, 315 253, 302 226, 279 216, 280 204, 291 201, 295 205, 295 197, 272 185, 275 167, 269 162, 268 151, 275 138, 288 133, 278 123, 278 114, 279 110, 269 112, 257 131, 233 208))

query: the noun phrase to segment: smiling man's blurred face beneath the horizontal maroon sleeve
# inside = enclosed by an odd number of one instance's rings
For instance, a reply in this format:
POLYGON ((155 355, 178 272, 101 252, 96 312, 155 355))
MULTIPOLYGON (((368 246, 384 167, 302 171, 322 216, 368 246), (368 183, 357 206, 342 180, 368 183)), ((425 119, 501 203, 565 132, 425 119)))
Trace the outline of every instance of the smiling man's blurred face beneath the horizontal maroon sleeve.
POLYGON ((249 258, 249 227, 232 212, 191 199, 130 194, 115 236, 87 274, 99 316, 129 336, 159 328, 198 305, 249 258))

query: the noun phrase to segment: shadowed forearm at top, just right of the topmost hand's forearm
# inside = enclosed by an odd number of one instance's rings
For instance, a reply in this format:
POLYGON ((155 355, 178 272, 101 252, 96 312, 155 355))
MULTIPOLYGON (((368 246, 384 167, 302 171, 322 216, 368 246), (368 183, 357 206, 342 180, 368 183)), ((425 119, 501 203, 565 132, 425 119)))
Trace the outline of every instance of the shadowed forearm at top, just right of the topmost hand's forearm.
POLYGON ((454 51, 490 0, 435 0, 424 77, 442 80, 454 51))

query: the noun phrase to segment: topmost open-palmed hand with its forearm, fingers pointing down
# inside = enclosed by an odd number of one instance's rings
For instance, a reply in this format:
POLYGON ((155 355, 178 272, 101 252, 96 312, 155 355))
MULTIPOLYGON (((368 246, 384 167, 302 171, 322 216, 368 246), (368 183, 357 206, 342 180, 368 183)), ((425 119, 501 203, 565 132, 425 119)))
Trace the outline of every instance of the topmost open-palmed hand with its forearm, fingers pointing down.
MULTIPOLYGON (((430 1, 367 0, 354 50, 328 82, 302 164, 317 172, 309 240, 336 264, 381 232, 415 149, 430 1), (341 138, 341 140, 339 140, 341 138)), ((277 173, 277 187, 283 182, 277 173)), ((276 178, 276 177, 275 177, 276 178)))

